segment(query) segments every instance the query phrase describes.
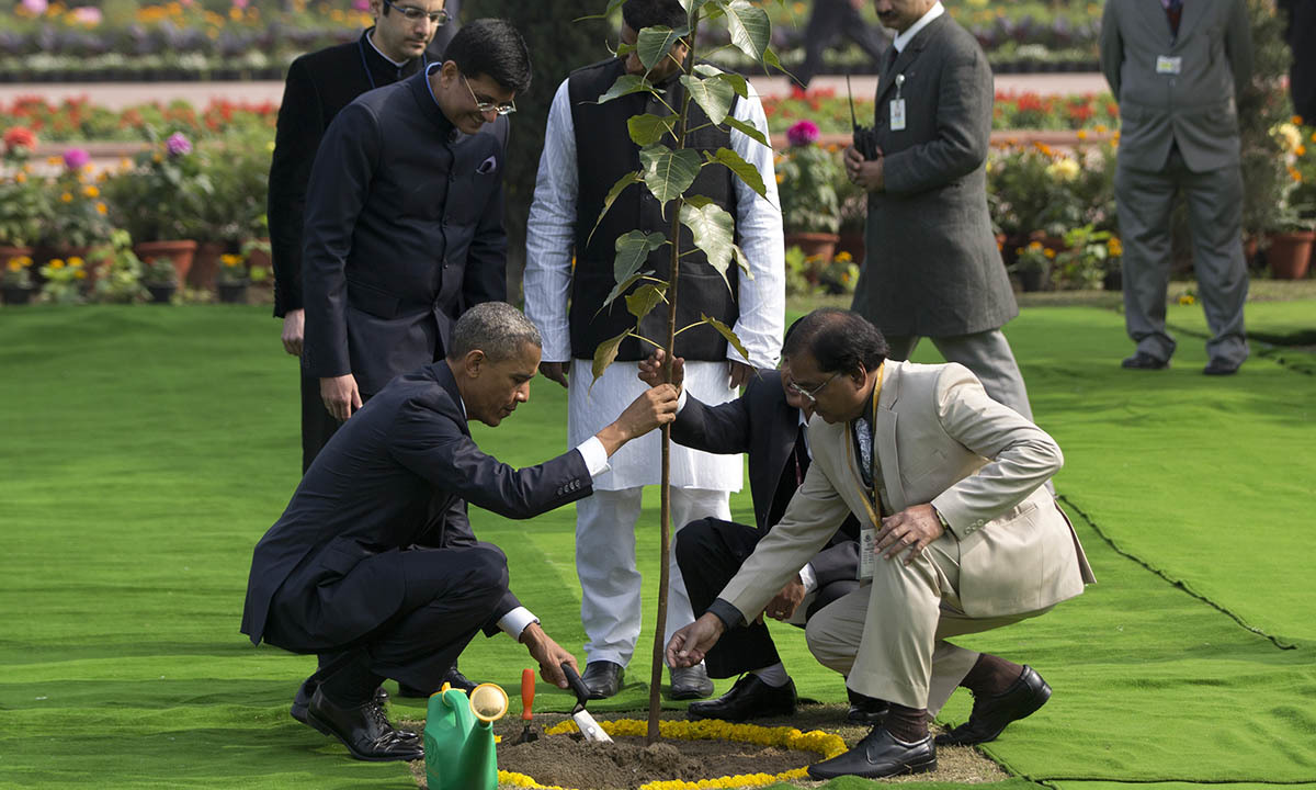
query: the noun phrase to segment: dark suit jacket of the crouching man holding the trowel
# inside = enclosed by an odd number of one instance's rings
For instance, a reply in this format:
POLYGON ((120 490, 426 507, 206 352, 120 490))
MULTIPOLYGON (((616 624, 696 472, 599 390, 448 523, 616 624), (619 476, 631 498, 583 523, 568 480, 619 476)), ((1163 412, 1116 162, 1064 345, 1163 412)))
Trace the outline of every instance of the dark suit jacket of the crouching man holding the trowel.
MULTIPOLYGON (((401 375, 375 395, 316 457, 283 516, 257 544, 242 632, 259 644, 270 600, 280 587, 305 600, 305 621, 330 596, 332 627, 316 635, 330 649, 383 624, 405 591, 400 553, 412 545, 475 544, 466 504, 528 519, 588 495, 590 471, 578 450, 525 469, 487 456, 470 429, 446 362, 401 375), (368 574, 351 570, 376 560, 368 574)), ((520 606, 508 592, 486 624, 520 606)), ((321 623, 322 618, 318 619, 321 623)))

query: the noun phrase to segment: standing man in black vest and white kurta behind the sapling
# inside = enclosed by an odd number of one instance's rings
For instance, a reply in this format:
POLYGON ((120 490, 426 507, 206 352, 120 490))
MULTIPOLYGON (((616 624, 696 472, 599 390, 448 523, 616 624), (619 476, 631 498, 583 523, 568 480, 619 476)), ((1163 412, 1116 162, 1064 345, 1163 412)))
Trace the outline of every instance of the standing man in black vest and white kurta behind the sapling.
MULTIPOLYGON (((638 30, 686 25, 678 0, 628 0, 621 7, 622 43, 634 45, 638 30)), ((642 388, 637 365, 649 349, 630 338, 621 344, 617 363, 592 379, 591 359, 603 340, 620 334, 634 319, 624 308, 601 311, 612 290, 615 241, 630 230, 667 230, 670 217, 642 187, 622 191, 592 238, 590 232, 617 179, 640 169, 637 146, 626 121, 650 112, 667 115, 679 107, 680 66, 688 55, 684 41, 672 45, 670 58, 649 71, 647 79, 665 92, 665 101, 649 93, 633 93, 604 104, 597 97, 622 74, 645 74, 634 54, 612 58, 574 71, 558 88, 549 111, 544 154, 540 159, 534 203, 526 233, 525 311, 544 334, 540 373, 569 388, 567 438, 592 434, 607 423, 617 404, 629 403, 642 388), (578 155, 578 151, 580 155, 578 155), (572 266, 572 253, 575 262, 572 266), (570 307, 569 307, 570 304, 570 307)), ((767 122, 758 96, 750 90, 732 108, 732 117, 753 124, 765 134, 767 122)), ((775 367, 784 321, 784 253, 782 215, 772 176, 772 151, 736 130, 712 125, 697 107, 687 147, 715 151, 729 147, 763 175, 767 199, 724 167, 705 167, 692 192, 711 198, 736 219, 737 241, 750 262, 753 279, 729 271, 730 290, 703 254, 682 258, 679 327, 700 320, 700 313, 732 327, 749 350, 744 358, 704 325, 678 337, 676 353, 686 362, 686 387, 711 406, 736 396, 755 367, 775 367)), ((692 250, 687 230, 682 249, 692 250)), ((650 255, 646 270, 667 278, 670 250, 650 255)), ((734 269, 734 267, 733 267, 734 269)), ((665 311, 650 313, 641 333, 663 336, 665 311)), ((640 636, 640 574, 636 570, 634 525, 644 486, 659 482, 657 436, 622 450, 612 471, 595 481, 595 495, 576 507, 576 571, 580 578, 580 616, 588 637, 584 681, 595 698, 611 697, 621 686, 640 636)), ((728 492, 740 488, 738 456, 713 456, 674 446, 672 524, 678 527, 703 516, 730 519, 728 492)), ((690 599, 675 561, 669 586, 669 623, 692 616, 690 599)), ((666 637, 667 635, 665 635, 666 637)), ((703 666, 672 672, 671 698, 692 699, 712 694, 703 666)))

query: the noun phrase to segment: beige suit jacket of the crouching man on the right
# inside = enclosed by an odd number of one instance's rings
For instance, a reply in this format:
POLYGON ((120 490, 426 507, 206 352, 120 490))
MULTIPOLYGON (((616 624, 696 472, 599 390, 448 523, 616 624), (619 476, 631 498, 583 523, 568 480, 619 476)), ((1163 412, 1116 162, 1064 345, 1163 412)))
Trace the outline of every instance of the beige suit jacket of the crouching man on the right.
MULTIPOLYGON (((782 520, 720 598, 746 621, 822 548, 850 512, 867 523, 848 424, 809 424, 813 463, 782 520)), ((1063 463, 1045 431, 996 403, 962 365, 886 362, 875 446, 884 511, 932 503, 959 542, 959 602, 970 618, 1037 611, 1094 579, 1045 483, 1063 463)))

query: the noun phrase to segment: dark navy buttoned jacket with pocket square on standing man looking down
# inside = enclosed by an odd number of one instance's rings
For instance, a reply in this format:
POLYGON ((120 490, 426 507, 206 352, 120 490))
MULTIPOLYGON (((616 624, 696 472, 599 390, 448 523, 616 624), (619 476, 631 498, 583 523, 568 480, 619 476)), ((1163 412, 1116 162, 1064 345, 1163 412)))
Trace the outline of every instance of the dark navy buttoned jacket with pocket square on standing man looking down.
POLYGON ((496 137, 453 128, 425 72, 338 113, 308 187, 308 375, 350 373, 371 396, 442 358, 467 307, 507 299, 503 165, 496 137))

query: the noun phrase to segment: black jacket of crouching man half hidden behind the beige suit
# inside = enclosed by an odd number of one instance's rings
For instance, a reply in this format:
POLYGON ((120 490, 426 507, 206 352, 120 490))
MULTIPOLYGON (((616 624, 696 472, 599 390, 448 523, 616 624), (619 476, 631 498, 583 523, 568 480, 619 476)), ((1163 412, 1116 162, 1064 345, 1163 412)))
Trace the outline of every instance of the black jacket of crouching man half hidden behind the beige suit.
MULTIPOLYGON (((749 453, 754 521, 766 533, 774 527, 767 519, 795 449, 799 425, 800 409, 786 402, 782 374, 761 370, 740 398, 721 406, 707 406, 687 392, 686 406, 671 424, 671 438, 705 453, 749 453)), ((858 537, 859 523, 850 515, 809 561, 819 587, 857 578, 858 537)))

